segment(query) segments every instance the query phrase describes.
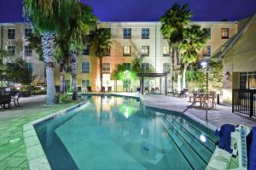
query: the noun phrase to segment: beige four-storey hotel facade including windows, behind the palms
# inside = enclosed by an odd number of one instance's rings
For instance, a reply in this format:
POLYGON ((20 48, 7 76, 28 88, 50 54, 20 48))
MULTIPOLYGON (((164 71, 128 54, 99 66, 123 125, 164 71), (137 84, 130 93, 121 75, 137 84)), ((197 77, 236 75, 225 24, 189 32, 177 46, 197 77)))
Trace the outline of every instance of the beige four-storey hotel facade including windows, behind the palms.
MULTIPOLYGON (((209 59, 218 52, 218 49, 234 37, 238 31, 238 22, 195 22, 202 28, 206 28, 209 33, 206 48, 203 49, 201 58, 209 59)), ((35 84, 44 83, 44 65, 39 61, 38 54, 32 51, 26 41, 26 34, 29 32, 29 23, 0 24, 1 26, 1 48, 14 52, 15 56, 26 59, 31 63, 33 75, 36 77, 35 84)), ((112 87, 111 72, 118 64, 125 63, 127 68, 131 65, 131 60, 143 54, 143 67, 151 65, 155 72, 169 72, 172 68, 170 49, 168 42, 160 33, 160 22, 103 22, 101 26, 111 30, 112 48, 108 56, 103 57, 103 86, 112 87)), ((90 86, 93 91, 100 90, 100 70, 99 61, 90 53, 88 44, 84 44, 82 55, 78 56, 78 87, 79 91, 86 91, 90 86)), ((72 79, 67 73, 67 88, 72 79)), ((146 82, 148 88, 160 88, 160 80, 146 82)), ((164 83, 164 81, 162 81, 164 83)), ((59 65, 55 63, 55 85, 60 84, 59 65)), ((162 84, 161 86, 164 86, 162 84)), ((131 85, 133 91, 139 87, 135 82, 131 85)), ((170 87, 170 81, 168 82, 170 87)), ((124 84, 118 81, 118 91, 124 91, 124 84)), ((162 88, 164 89, 164 88, 162 88)))

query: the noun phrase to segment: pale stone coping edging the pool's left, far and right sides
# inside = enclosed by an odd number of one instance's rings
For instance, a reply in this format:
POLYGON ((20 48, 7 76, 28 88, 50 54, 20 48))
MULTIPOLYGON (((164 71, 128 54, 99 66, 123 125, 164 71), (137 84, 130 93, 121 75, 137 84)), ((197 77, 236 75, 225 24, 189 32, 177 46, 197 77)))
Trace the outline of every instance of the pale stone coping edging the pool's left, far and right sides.
MULTIPOLYGON (((143 105, 148 108, 154 108, 154 109, 158 109, 161 111, 174 111, 174 110, 163 109, 160 107, 147 105, 145 102, 143 102, 143 96, 141 96, 141 95, 135 96, 135 95, 125 95, 125 94, 114 94, 114 93, 113 94, 80 94, 80 95, 114 95, 114 96, 120 96, 120 97, 131 97, 131 98, 140 99, 140 101, 143 103, 143 105)), ((65 114, 65 113, 67 113, 67 111, 72 111, 76 108, 79 108, 82 105, 88 105, 88 104, 89 103, 87 101, 84 101, 84 102, 79 103, 79 105, 74 105, 70 108, 67 108, 67 109, 64 109, 61 111, 57 111, 48 116, 41 117, 33 122, 29 122, 29 123, 26 123, 25 125, 23 125, 23 137, 24 137, 24 143, 26 145, 26 156, 27 156, 27 162, 28 162, 29 169, 31 169, 31 170, 51 170, 51 167, 49 166, 49 161, 48 161, 47 157, 45 156, 43 147, 38 139, 38 135, 35 131, 34 125, 39 122, 48 120, 54 116, 65 114)), ((188 118, 194 120, 195 122, 200 123, 201 126, 207 127, 209 129, 211 129, 212 131, 215 131, 216 129, 218 129, 218 127, 215 127, 211 123, 205 122, 205 121, 197 118, 196 116, 192 116, 190 114, 189 115, 184 114, 184 113, 182 113, 182 111, 175 111, 175 112, 178 112, 183 116, 187 116, 188 118)))

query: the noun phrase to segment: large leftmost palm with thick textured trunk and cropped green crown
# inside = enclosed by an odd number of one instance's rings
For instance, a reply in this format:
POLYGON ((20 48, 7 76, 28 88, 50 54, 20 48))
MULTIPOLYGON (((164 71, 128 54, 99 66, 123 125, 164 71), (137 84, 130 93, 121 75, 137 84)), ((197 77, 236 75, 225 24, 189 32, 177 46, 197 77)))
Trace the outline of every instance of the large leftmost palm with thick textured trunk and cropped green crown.
POLYGON ((46 64, 47 104, 55 104, 54 54, 55 34, 68 26, 70 3, 77 0, 24 0, 24 9, 32 26, 40 32, 43 57, 46 64))

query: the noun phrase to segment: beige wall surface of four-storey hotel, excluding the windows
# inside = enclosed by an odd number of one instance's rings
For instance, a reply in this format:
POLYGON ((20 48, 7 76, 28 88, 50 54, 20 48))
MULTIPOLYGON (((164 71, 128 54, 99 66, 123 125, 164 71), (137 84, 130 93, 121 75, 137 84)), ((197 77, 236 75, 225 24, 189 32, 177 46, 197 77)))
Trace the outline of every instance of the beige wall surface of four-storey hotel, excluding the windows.
MULTIPOLYGON (((195 22, 204 28, 211 28, 211 39, 208 40, 207 45, 211 46, 211 55, 222 46, 228 39, 221 38, 221 28, 230 29, 230 37, 233 37, 237 32, 236 22, 195 22)), ((3 26, 3 48, 7 48, 8 44, 15 44, 17 46, 17 56, 31 62, 33 66, 33 74, 37 77, 36 82, 44 82, 44 65, 38 60, 38 54, 32 53, 32 57, 24 56, 24 45, 27 43, 24 36, 24 29, 29 27, 29 24, 2 24, 3 26), (14 27, 16 29, 15 41, 7 38, 8 28, 14 27), (18 43, 20 42, 20 43, 18 43)), ((111 86, 114 82, 110 80, 111 72, 115 66, 122 63, 131 63, 131 59, 142 53, 142 46, 149 46, 149 56, 144 57, 143 62, 152 65, 156 72, 163 72, 163 64, 171 63, 170 56, 164 56, 163 48, 168 46, 166 39, 160 33, 160 22, 104 22, 102 27, 110 28, 112 34, 112 48, 110 56, 103 57, 103 63, 110 63, 110 72, 103 74, 103 86, 111 86), (131 28, 131 39, 123 38, 123 29, 131 28), (142 28, 149 28, 149 39, 142 38, 142 28), (123 47, 131 46, 131 56, 123 56, 123 47)), ((210 56, 209 56, 210 57, 210 56)), ((207 57, 207 58, 209 58, 207 57)), ((201 56, 203 58, 203 56, 201 56)), ((100 90, 100 71, 99 61, 95 56, 79 55, 78 56, 78 86, 82 86, 82 80, 90 80, 90 86, 93 91, 100 90), (82 61, 90 61, 90 72, 82 73, 82 61)), ((67 74, 66 79, 70 76, 67 74)), ((170 80, 169 80, 170 82, 170 80)), ((162 81, 164 83, 164 81, 162 81)), ((59 65, 55 64, 55 85, 60 84, 59 65)), ((151 81, 151 86, 160 86, 160 80, 151 81)), ((133 85, 133 90, 138 86, 138 82, 133 85)), ((163 84, 162 84, 163 86, 163 84)), ((118 81, 118 90, 123 91, 123 83, 118 81)))

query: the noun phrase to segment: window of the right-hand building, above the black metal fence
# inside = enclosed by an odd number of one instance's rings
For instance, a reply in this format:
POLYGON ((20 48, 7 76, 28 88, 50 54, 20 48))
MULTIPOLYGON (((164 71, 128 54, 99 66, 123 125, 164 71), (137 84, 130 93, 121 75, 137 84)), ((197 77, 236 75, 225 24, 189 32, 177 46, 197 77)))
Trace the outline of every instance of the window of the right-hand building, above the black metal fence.
POLYGON ((256 71, 240 72, 239 87, 241 89, 256 89, 256 71))

